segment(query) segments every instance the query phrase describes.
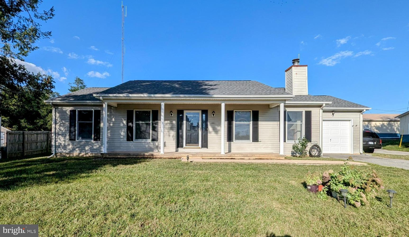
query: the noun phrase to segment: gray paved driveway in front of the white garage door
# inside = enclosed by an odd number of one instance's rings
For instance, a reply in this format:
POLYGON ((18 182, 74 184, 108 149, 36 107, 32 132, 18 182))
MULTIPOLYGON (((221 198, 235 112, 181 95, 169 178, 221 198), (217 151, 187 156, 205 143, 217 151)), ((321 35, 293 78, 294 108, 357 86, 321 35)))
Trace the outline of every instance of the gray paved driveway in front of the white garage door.
POLYGON ((368 162, 368 163, 373 163, 377 165, 409 169, 409 160, 389 159, 389 158, 381 158, 381 157, 367 156, 367 155, 325 154, 324 156, 328 156, 332 158, 341 158, 341 159, 347 159, 349 156, 352 156, 354 161, 362 161, 362 162, 368 162))

